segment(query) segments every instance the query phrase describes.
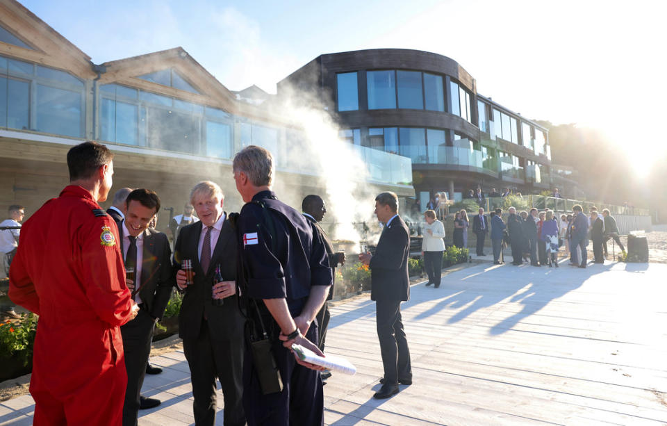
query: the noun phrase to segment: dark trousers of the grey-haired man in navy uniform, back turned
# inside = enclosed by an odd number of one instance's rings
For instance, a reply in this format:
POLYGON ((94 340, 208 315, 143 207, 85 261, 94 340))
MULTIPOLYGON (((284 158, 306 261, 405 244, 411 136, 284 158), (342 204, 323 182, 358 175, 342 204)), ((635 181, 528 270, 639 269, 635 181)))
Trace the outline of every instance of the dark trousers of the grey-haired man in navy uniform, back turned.
MULTIPOLYGON (((318 325, 308 328, 306 338, 318 341, 318 325)), ((290 350, 274 338, 272 353, 283 380, 283 390, 263 395, 254 368, 252 351, 245 351, 243 407, 248 426, 324 425, 324 393, 320 372, 299 366, 290 350)))

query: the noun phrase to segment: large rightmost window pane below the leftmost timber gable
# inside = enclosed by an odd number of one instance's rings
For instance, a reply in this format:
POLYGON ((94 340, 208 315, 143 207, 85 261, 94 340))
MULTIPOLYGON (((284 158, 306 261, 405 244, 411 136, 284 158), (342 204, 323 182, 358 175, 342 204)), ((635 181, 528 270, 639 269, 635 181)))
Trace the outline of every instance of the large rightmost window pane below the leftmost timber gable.
POLYGON ((81 93, 37 85, 37 131, 81 138, 81 93))

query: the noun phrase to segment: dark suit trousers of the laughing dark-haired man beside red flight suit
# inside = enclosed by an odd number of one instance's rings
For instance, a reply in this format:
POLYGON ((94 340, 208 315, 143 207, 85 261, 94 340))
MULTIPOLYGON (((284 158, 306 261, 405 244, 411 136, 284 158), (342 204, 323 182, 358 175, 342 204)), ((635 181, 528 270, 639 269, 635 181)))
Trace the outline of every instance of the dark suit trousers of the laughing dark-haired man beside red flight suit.
POLYGON ((127 388, 123 404, 123 426, 136 426, 141 386, 146 375, 155 320, 143 306, 136 318, 120 327, 125 352, 127 388))

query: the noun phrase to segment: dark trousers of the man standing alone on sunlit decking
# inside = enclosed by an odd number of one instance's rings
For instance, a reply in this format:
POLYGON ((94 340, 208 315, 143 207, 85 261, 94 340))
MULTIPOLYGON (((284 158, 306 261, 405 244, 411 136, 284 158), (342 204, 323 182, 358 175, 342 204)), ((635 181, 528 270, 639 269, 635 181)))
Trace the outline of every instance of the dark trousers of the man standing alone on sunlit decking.
POLYGON ((377 300, 377 337, 384 366, 384 382, 398 384, 398 379, 412 379, 410 350, 401 318, 400 300, 377 300))

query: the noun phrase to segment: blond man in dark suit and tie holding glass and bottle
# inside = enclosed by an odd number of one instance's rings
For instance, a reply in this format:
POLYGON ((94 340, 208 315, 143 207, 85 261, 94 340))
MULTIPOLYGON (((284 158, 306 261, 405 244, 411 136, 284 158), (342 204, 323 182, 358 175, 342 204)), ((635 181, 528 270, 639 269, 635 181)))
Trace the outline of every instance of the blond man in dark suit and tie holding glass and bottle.
POLYGON ((222 210, 224 195, 211 181, 190 192, 199 222, 181 229, 174 249, 176 284, 183 296, 179 336, 192 375, 195 424, 215 423, 215 378, 224 395, 224 425, 245 425, 242 405, 243 322, 236 295, 236 229, 222 210), (192 261, 194 283, 186 285, 181 269, 192 261), (223 281, 213 282, 220 265, 223 281), (215 298, 215 300, 214 300, 215 298), (217 302, 222 300, 222 304, 217 302))

